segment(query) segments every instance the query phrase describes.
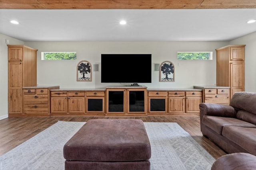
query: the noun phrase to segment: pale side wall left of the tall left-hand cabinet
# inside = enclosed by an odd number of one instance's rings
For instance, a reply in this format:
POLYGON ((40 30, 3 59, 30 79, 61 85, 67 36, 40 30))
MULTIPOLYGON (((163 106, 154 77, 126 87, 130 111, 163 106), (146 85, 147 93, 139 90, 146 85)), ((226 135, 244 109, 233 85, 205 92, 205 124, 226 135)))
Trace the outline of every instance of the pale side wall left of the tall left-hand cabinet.
POLYGON ((0 34, 0 119, 8 117, 8 47, 5 40, 10 44, 23 45, 18 39, 0 34))

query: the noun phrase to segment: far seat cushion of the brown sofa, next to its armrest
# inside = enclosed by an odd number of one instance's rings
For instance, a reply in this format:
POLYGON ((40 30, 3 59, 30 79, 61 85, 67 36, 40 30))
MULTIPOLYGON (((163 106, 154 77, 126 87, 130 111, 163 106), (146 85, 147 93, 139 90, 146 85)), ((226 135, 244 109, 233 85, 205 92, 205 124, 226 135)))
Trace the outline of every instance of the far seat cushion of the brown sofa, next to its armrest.
POLYGON ((222 134, 222 128, 224 126, 240 126, 240 127, 256 128, 256 125, 252 123, 248 123, 246 121, 242 121, 240 119, 231 118, 231 117, 218 117, 218 116, 204 115, 202 119, 202 123, 220 135, 222 134))

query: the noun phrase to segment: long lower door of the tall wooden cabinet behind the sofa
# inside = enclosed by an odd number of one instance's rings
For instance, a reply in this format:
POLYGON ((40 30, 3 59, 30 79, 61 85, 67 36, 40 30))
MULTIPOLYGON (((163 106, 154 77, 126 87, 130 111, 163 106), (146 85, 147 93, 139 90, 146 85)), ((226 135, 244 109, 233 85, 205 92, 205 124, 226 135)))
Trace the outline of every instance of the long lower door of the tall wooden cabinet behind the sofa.
POLYGON ((230 99, 238 91, 244 91, 244 61, 230 63, 230 99))

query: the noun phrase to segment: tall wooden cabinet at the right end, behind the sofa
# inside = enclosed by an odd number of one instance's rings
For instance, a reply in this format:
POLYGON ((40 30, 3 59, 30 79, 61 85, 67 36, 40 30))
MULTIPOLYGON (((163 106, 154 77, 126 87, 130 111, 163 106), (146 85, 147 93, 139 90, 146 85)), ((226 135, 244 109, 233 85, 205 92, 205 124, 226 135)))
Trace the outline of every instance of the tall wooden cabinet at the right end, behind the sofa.
POLYGON ((244 91, 245 45, 228 45, 216 49, 216 85, 230 87, 230 99, 244 91))

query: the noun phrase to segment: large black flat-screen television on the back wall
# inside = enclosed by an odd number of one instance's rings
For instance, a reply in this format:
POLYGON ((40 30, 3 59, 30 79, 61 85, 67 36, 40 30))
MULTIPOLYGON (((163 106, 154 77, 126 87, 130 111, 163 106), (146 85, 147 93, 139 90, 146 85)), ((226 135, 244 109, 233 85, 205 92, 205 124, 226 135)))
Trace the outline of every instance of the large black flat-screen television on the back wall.
POLYGON ((102 54, 102 83, 151 83, 151 54, 102 54))

